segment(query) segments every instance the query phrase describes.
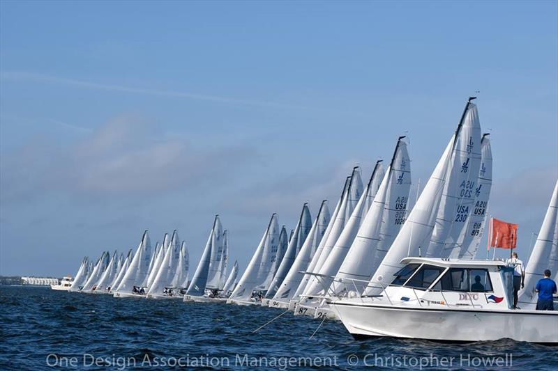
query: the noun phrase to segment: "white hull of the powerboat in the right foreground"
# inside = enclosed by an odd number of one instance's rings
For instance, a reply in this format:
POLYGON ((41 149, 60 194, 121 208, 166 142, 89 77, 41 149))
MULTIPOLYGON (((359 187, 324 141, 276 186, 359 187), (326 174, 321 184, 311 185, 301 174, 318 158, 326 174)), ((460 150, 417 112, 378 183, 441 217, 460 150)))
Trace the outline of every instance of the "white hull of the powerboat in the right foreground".
POLYGON ((331 306, 355 338, 389 336, 442 342, 511 338, 558 344, 558 313, 551 311, 409 308, 340 302, 331 306))

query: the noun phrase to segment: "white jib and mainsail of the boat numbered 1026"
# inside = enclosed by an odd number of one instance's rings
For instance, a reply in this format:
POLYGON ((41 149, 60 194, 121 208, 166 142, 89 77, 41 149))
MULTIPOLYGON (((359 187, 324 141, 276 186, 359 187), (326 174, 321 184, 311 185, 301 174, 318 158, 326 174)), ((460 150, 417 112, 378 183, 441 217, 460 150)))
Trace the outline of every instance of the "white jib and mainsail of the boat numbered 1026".
POLYGON ((403 138, 400 137, 395 145, 382 184, 335 277, 342 281, 333 283, 335 294, 344 290, 363 292, 365 284, 351 280, 370 280, 405 223, 411 187, 411 161, 403 138))

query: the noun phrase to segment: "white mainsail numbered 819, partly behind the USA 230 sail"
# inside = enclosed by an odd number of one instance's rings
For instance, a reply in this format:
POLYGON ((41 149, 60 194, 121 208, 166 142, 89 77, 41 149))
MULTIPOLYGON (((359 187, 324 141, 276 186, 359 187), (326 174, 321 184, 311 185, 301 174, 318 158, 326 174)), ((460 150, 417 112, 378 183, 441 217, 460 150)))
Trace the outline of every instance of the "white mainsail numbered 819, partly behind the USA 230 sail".
POLYGON ((487 136, 488 134, 484 134, 481 139, 481 168, 478 170, 475 187, 475 204, 467 221, 467 228, 462 231, 462 236, 449 258, 474 259, 481 244, 492 188, 492 149, 487 136))

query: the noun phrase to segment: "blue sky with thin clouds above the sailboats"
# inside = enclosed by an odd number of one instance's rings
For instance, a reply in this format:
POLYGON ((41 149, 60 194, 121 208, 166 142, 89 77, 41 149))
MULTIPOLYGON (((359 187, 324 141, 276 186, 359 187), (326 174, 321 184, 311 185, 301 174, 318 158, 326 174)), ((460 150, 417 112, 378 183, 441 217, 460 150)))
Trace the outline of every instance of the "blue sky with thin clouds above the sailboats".
MULTIPOLYGON (((558 6, 476 2, 0 2, 0 274, 214 214, 246 266, 409 136, 424 184, 469 95, 492 133, 490 213, 526 258, 558 177, 558 6)), ((333 205, 332 205, 333 206, 333 205)))

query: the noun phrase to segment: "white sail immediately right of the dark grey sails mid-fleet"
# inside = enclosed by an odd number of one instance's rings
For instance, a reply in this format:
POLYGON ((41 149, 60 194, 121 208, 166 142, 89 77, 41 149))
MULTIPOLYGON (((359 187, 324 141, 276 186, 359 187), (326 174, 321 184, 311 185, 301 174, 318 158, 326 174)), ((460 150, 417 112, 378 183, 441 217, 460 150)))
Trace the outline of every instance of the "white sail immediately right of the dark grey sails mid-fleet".
POLYGON ((299 287, 304 276, 302 272, 308 269, 310 260, 312 260, 312 256, 317 246, 322 241, 322 236, 324 236, 326 228, 329 225, 329 219, 330 214, 327 200, 323 200, 322 205, 319 207, 318 215, 312 224, 312 228, 310 228, 310 232, 308 232, 308 237, 306 237, 300 252, 296 255, 292 267, 282 281, 273 300, 288 302, 294 297, 296 289, 299 287))

